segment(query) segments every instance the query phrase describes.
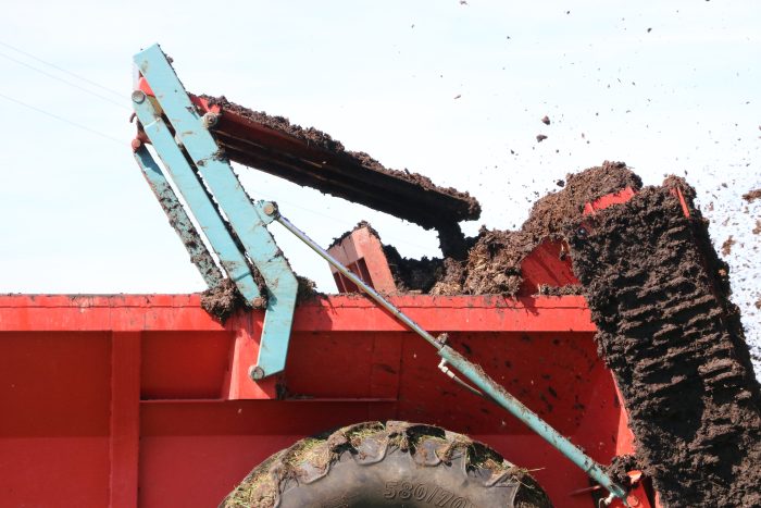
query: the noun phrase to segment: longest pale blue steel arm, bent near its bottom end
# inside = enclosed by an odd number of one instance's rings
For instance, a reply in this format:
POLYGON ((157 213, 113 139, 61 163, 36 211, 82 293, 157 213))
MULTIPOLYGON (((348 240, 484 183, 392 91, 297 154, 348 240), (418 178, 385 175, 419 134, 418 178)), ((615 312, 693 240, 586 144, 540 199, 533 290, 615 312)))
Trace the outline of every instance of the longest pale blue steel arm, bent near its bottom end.
POLYGON ((280 372, 285 369, 298 282, 266 228, 271 219, 264 213, 263 203, 254 205, 246 194, 161 48, 154 45, 137 53, 134 60, 203 182, 227 215, 246 253, 266 283, 267 309, 252 377, 261 379, 280 372))

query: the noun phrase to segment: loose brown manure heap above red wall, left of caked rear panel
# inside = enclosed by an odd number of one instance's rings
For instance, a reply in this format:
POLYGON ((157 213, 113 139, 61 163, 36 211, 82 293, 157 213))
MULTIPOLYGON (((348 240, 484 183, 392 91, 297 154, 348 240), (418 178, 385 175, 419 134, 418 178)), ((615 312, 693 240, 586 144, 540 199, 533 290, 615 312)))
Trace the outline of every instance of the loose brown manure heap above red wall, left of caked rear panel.
POLYGON ((534 203, 521 230, 482 228, 476 237, 466 238, 463 260, 403 259, 396 249, 386 248, 397 287, 434 295, 515 295, 523 282, 521 262, 538 244, 563 238, 587 202, 626 187, 638 190, 641 179, 623 162, 606 161, 569 174, 563 188, 534 203))

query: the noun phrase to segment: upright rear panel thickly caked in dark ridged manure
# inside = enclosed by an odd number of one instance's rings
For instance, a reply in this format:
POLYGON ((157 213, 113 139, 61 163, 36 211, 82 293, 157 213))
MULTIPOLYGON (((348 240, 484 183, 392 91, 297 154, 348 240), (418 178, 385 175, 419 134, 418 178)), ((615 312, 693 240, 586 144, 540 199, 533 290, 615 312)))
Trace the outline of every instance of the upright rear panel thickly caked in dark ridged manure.
POLYGON ((569 230, 573 268, 664 506, 761 506, 761 391, 694 197, 670 178, 587 218, 569 230))

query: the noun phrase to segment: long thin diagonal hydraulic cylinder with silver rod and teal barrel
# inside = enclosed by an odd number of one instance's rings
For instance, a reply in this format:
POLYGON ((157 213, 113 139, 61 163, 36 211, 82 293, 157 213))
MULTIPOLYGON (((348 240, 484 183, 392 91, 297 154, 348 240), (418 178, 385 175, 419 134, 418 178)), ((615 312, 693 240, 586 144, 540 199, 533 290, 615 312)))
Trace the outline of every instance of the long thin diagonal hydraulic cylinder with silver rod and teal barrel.
POLYGON ((597 483, 607 488, 612 496, 621 499, 624 506, 628 506, 626 501, 626 491, 621 485, 616 484, 591 457, 587 456, 576 445, 563 437, 558 431, 552 429, 547 422, 539 418, 538 414, 524 406, 523 402, 506 392, 504 388, 499 386, 494 380, 486 375, 483 370, 467 361, 462 355, 452 349, 450 346, 447 346, 444 340, 435 338, 428 332, 423 330, 417 323, 412 321, 401 310, 397 309, 390 301, 386 300, 372 287, 367 286, 360 277, 351 273, 349 269, 338 262, 338 260, 320 247, 314 240, 307 236, 307 234, 291 224, 287 219, 284 216, 277 216, 275 220, 286 230, 301 239, 301 241, 307 244, 312 250, 330 263, 330 265, 342 273, 352 283, 357 284, 357 287, 362 289, 380 307, 390 312, 391 315, 404 323, 410 330, 434 346, 441 358, 444 358, 463 376, 481 388, 488 398, 507 409, 512 416, 521 420, 534 432, 544 437, 547 443, 552 445, 556 449, 558 449, 558 451, 578 466, 578 468, 581 468, 597 483))

